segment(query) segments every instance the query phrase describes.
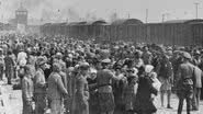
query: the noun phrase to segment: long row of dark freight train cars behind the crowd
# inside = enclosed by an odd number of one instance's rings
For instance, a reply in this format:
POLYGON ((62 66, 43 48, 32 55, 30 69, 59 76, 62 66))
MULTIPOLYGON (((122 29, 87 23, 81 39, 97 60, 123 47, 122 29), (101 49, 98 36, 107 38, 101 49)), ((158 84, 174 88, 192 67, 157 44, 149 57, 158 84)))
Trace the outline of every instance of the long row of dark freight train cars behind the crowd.
POLYGON ((127 41, 165 45, 203 45, 203 20, 177 20, 147 23, 136 19, 116 20, 111 24, 94 22, 54 23, 42 26, 44 34, 61 34, 80 39, 127 41))

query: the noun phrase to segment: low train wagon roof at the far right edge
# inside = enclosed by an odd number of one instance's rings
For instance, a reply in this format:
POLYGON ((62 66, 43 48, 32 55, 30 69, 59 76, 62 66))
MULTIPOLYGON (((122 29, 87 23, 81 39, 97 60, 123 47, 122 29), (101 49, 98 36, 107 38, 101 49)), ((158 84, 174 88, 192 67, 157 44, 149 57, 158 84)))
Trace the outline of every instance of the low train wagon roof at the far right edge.
POLYGON ((184 23, 184 24, 193 24, 193 23, 200 23, 203 22, 202 19, 195 19, 195 20, 170 20, 166 21, 163 23, 184 23))

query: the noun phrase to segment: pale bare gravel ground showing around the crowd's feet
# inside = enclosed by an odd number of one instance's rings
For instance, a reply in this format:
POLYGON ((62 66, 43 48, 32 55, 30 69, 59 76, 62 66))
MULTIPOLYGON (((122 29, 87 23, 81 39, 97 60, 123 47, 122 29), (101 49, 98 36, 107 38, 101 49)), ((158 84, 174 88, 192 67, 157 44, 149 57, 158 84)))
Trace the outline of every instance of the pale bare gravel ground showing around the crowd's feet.
MULTIPOLYGON (((22 114, 22 99, 21 99, 21 91, 20 90, 12 90, 11 86, 7 86, 3 82, 0 82, 0 86, 2 88, 3 94, 1 95, 3 100, 4 106, 0 107, 0 114, 22 114)), ((165 98, 167 100, 167 96, 165 98)), ((171 105, 172 110, 168 110, 166 107, 160 106, 160 100, 159 96, 156 98, 155 104, 157 105, 158 112, 157 114, 177 114, 178 110, 178 98, 176 95, 172 95, 171 99, 171 105)), ((165 104, 167 106, 167 104, 165 104)), ((185 113, 185 101, 183 106, 183 113, 185 113)), ((191 114, 203 114, 203 101, 201 101, 200 111, 192 112, 191 114)), ((121 114, 121 112, 115 111, 115 114, 121 114)))

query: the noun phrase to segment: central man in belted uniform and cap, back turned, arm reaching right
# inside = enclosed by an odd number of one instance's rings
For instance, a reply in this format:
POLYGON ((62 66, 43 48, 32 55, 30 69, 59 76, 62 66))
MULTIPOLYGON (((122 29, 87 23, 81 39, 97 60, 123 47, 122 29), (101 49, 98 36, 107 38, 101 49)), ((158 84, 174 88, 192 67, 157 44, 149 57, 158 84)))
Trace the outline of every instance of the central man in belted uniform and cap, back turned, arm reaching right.
POLYGON ((112 80, 120 80, 114 73, 109 69, 111 64, 110 59, 102 60, 102 69, 98 71, 97 83, 99 92, 99 107, 101 114, 113 114, 115 103, 112 91, 112 80))

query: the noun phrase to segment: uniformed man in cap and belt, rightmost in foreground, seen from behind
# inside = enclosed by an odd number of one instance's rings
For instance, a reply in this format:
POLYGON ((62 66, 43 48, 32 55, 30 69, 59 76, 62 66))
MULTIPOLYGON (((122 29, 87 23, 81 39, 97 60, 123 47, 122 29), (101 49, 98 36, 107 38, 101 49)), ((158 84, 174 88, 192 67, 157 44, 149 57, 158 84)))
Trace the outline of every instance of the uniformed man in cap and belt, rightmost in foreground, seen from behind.
POLYGON ((183 53, 183 62, 178 69, 177 87, 179 96, 178 114, 182 113, 184 99, 187 100, 187 114, 190 114, 190 106, 193 93, 194 66, 190 62, 192 59, 189 53, 183 53))

